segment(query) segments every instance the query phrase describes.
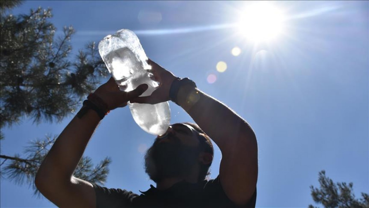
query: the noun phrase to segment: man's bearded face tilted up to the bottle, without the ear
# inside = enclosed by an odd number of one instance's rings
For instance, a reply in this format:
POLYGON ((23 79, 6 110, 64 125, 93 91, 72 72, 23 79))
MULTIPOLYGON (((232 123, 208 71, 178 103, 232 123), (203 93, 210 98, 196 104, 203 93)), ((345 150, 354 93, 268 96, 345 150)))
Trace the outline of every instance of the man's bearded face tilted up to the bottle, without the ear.
POLYGON ((197 131, 187 124, 173 124, 146 151, 145 171, 155 182, 185 176, 199 162, 198 156, 197 131))

